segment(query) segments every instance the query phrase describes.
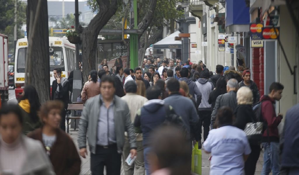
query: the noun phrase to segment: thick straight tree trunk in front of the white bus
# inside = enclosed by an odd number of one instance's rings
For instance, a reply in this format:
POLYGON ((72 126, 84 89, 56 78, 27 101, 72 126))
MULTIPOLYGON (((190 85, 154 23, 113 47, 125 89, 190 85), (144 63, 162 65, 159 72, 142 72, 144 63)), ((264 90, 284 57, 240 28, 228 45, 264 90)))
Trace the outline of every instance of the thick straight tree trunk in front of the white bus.
POLYGON ((47 0, 40 1, 39 10, 37 9, 38 0, 27 1, 28 52, 31 50, 31 57, 26 60, 30 79, 25 79, 25 81, 26 85, 30 84, 36 88, 39 101, 44 103, 50 99, 49 27, 47 0), (30 12, 33 15, 30 15, 30 12), (34 26, 32 24, 36 17, 37 25, 34 26), (30 28, 30 23, 32 28, 30 28), (32 42, 30 42, 31 35, 33 36, 32 42))

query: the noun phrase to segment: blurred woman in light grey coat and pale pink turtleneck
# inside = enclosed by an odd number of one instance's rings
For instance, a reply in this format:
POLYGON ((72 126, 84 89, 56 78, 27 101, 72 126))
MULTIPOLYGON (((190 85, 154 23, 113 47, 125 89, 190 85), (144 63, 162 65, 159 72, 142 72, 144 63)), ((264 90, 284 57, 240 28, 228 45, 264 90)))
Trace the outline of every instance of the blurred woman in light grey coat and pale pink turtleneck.
POLYGON ((55 175, 42 144, 22 134, 22 110, 17 104, 0 110, 0 174, 55 175))

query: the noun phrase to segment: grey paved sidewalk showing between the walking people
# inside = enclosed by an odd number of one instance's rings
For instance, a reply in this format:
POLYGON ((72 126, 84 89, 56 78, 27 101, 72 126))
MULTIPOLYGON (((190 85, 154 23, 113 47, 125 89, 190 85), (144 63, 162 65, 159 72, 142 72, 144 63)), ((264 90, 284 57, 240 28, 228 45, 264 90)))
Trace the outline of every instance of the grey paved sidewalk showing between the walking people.
MULTIPOLYGON (((76 147, 77 145, 77 137, 78 137, 78 131, 70 131, 70 136, 73 139, 76 147)), ((209 175, 210 174, 210 161, 208 160, 210 157, 210 154, 205 153, 205 151, 202 150, 202 175, 209 175)), ((88 156, 86 159, 83 159, 81 157, 81 174, 80 175, 90 175, 90 152, 88 152, 88 156)), ((257 168, 255 171, 255 175, 260 175, 263 168, 263 151, 260 154, 260 158, 257 161, 257 168)), ((270 173, 271 175, 272 173, 270 173)), ((124 175, 123 168, 121 167, 120 175, 124 175)))

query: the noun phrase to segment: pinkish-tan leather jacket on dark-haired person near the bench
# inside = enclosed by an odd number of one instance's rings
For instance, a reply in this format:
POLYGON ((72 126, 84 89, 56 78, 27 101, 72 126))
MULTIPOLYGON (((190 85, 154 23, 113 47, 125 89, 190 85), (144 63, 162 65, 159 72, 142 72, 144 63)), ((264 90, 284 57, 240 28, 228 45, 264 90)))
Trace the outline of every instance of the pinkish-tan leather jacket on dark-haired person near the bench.
POLYGON ((85 85, 83 86, 82 92, 81 92, 81 99, 83 103, 86 102, 91 97, 94 97, 96 95, 100 94, 100 83, 96 82, 94 83, 93 81, 86 82, 85 85))

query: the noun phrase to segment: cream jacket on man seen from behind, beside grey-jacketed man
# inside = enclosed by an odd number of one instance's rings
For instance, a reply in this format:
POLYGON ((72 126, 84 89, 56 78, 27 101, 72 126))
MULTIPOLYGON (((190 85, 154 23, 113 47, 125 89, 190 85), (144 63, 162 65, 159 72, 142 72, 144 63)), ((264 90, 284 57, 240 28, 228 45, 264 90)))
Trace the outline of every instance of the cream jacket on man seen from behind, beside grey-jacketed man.
MULTIPOLYGON (((145 102, 147 102, 147 98, 135 93, 126 93, 126 95, 121 97, 121 99, 127 102, 130 110, 131 122, 134 123, 137 110, 140 109, 145 102)), ((127 133, 125 133, 125 136, 127 136, 127 133)), ((142 134, 136 133, 136 141, 141 140, 142 134)))

